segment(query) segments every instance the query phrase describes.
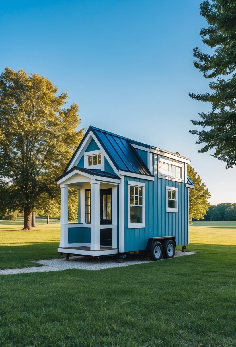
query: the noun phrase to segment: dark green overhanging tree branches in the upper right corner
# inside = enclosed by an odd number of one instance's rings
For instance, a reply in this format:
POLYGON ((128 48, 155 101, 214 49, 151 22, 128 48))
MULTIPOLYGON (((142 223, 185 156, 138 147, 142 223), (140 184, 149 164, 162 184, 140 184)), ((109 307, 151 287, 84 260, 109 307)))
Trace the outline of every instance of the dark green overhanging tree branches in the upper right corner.
POLYGON ((226 162, 226 168, 232 168, 236 165, 236 2, 207 0, 201 3, 200 10, 209 24, 201 29, 200 35, 214 52, 206 54, 195 48, 194 66, 210 80, 212 92, 189 95, 210 102, 211 111, 199 113, 201 120, 192 120, 193 125, 203 130, 190 133, 198 136, 197 144, 204 143, 200 153, 214 149, 211 155, 226 162))

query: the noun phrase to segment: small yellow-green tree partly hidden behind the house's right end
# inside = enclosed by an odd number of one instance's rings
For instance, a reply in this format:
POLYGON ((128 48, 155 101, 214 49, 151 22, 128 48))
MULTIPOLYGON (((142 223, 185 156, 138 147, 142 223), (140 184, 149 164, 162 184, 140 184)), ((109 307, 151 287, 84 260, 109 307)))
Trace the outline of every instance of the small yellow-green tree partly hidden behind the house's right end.
POLYGON ((204 218, 210 206, 207 200, 211 194, 204 182, 202 183, 200 175, 191 165, 188 165, 187 174, 195 185, 195 189, 189 189, 189 222, 191 224, 193 218, 197 220, 204 218))

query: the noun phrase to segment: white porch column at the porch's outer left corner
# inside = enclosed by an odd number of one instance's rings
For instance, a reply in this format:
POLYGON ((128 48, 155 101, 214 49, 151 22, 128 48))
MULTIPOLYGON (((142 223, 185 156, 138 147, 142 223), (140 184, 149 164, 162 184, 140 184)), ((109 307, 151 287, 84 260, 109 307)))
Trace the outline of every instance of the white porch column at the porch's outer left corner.
POLYGON ((68 247, 68 185, 61 188, 61 240, 60 247, 68 247))

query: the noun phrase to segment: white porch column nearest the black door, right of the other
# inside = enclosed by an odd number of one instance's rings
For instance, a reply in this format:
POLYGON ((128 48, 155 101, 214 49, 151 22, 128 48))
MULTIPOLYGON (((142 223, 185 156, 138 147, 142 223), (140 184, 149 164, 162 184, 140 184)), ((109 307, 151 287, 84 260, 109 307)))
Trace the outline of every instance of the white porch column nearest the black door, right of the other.
POLYGON ((91 245, 96 251, 100 247, 100 182, 91 181, 91 245))

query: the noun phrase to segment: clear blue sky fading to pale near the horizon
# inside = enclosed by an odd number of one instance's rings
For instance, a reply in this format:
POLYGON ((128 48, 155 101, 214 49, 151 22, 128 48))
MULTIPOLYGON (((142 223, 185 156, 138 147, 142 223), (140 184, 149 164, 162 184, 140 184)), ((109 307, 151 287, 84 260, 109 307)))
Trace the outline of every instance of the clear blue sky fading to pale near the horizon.
POLYGON ((208 81, 193 67, 205 52, 201 0, 10 1, 0 8, 0 73, 5 67, 46 76, 69 92, 89 125, 191 159, 212 194, 236 202, 236 169, 199 154, 191 119, 210 104, 189 98, 208 81))

